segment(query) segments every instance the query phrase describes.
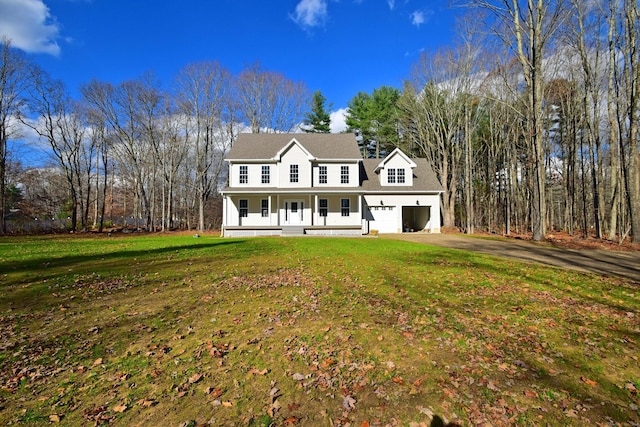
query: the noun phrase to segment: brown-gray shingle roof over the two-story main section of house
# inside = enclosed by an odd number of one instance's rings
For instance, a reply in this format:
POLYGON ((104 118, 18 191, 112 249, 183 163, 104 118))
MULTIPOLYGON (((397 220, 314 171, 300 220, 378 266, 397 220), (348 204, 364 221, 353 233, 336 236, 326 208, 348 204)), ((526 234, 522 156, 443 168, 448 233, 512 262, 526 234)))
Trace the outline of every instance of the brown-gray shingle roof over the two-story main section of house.
POLYGON ((294 138, 317 159, 362 158, 351 133, 243 133, 238 135, 227 159, 271 159, 294 138))

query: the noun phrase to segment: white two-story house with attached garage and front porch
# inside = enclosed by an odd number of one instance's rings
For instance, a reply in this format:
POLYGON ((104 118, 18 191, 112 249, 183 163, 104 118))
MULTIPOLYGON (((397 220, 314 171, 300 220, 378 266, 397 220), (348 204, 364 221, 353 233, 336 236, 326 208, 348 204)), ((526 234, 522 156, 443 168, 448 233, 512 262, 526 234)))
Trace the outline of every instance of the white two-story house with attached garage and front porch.
POLYGON ((440 232, 426 159, 363 160, 353 134, 241 134, 225 159, 222 234, 440 232))

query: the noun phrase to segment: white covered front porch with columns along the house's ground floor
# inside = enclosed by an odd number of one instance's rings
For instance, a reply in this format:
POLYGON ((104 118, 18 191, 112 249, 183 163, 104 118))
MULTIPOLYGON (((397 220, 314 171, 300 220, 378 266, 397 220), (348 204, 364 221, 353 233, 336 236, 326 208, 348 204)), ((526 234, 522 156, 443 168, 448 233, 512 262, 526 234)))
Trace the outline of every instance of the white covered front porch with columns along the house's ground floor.
POLYGON ((362 234, 362 209, 362 195, 356 192, 225 194, 222 234, 362 234))

